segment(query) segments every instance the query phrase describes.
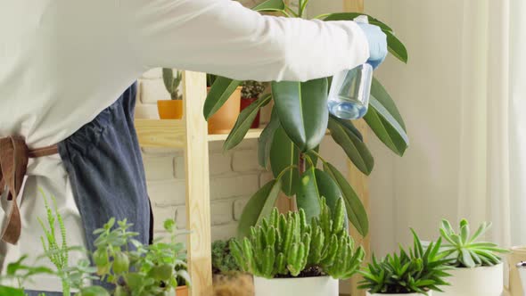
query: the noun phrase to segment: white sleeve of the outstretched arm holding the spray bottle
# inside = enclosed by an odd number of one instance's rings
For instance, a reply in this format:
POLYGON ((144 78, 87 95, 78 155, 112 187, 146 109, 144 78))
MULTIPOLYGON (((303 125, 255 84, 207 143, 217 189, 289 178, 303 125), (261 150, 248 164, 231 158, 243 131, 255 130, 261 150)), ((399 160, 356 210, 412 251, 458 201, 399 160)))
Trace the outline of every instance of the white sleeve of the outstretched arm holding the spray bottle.
POLYGON ((264 16, 232 0, 126 0, 123 23, 144 69, 171 67, 241 80, 322 78, 366 62, 354 21, 264 16))

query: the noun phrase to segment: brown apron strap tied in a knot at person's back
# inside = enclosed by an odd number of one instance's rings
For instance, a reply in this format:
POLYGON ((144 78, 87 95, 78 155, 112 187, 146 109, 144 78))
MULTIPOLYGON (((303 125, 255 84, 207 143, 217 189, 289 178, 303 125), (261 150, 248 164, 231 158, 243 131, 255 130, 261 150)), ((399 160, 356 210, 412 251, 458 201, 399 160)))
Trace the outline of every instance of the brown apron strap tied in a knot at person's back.
POLYGON ((57 152, 57 145, 29 151, 26 141, 20 136, 0 138, 0 195, 9 189, 6 196, 8 201, 12 201, 7 223, 2 229, 2 241, 16 244, 21 236, 21 213, 16 199, 21 193, 29 157, 43 157, 57 152))

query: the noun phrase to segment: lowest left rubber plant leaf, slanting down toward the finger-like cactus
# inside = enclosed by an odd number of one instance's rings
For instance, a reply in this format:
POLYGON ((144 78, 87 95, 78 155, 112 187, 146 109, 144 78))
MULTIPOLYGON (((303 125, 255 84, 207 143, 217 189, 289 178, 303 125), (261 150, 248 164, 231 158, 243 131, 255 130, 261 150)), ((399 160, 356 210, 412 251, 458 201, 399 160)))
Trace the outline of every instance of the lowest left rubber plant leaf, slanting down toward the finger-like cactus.
POLYGON ((272 180, 252 195, 251 200, 242 210, 239 225, 237 226, 238 237, 248 236, 251 226, 256 226, 261 222, 261 219, 270 215, 279 196, 281 184, 281 180, 272 180))

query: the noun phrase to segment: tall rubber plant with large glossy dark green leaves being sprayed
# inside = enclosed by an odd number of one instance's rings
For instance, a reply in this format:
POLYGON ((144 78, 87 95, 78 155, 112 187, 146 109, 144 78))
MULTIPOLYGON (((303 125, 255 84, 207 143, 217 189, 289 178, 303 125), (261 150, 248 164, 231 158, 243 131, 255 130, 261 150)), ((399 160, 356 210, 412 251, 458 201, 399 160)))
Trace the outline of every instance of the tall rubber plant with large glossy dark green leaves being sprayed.
MULTIPOLYGON (((253 8, 257 12, 277 12, 285 17, 304 16, 308 0, 300 0, 297 9, 283 0, 268 0, 253 8)), ((352 21, 363 13, 341 12, 316 17, 323 21, 352 21)), ((399 61, 407 62, 406 47, 395 37, 392 29, 382 21, 368 16, 369 23, 379 26, 387 35, 389 52, 399 61)), ((327 128, 333 140, 341 146, 356 167, 369 175, 374 168, 374 158, 363 137, 352 121, 337 119, 327 110, 329 78, 307 82, 272 82, 272 92, 259 98, 239 115, 227 137, 224 149, 229 150, 242 142, 259 109, 271 101, 274 109, 267 127, 259 137, 259 164, 270 168, 275 179, 255 193, 245 207, 238 234, 249 234, 274 208, 278 193, 296 198, 299 209, 305 211, 308 220, 319 214, 319 198, 324 196, 333 209, 335 201, 342 197, 346 214, 358 233, 366 235, 368 219, 358 194, 333 164, 318 154, 318 146, 327 128), (305 120, 308 119, 308 120, 305 120), (316 169, 321 160, 323 169, 316 169)), ((218 77, 211 84, 210 94, 204 104, 204 117, 209 119, 226 102, 242 81, 218 77)), ((407 149, 406 126, 400 113, 380 81, 374 78, 366 123, 374 134, 392 152, 402 156, 407 149)))

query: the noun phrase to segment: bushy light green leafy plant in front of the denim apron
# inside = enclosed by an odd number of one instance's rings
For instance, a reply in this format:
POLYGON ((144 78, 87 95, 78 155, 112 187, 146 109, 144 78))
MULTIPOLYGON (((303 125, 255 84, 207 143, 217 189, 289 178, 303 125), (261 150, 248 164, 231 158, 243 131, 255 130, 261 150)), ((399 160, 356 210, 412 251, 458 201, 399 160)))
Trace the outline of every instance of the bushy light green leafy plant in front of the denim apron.
POLYGON ((95 230, 99 234, 95 240, 97 250, 93 259, 97 274, 108 283, 116 284, 115 295, 164 295, 177 287, 177 277, 190 283, 186 272, 185 246, 177 243, 175 222, 167 220, 165 229, 170 233, 168 242, 157 239, 151 245, 136 241, 132 226, 127 220, 117 222, 112 218, 103 228, 95 230), (135 250, 129 246, 133 245, 135 250))

